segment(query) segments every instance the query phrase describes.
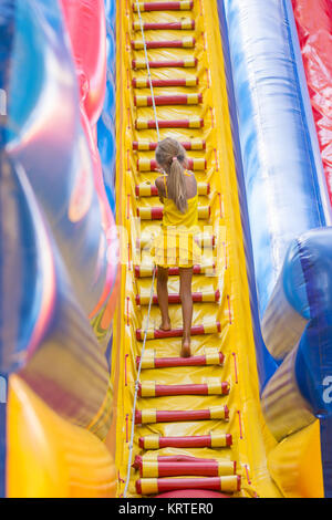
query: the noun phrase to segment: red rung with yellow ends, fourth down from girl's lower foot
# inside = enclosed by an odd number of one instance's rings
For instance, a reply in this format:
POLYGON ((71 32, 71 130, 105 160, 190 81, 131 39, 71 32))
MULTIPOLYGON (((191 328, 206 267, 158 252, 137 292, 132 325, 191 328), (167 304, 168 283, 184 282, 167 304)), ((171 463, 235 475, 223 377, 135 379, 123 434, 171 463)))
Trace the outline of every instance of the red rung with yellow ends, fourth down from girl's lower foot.
POLYGON ((187 437, 160 437, 159 435, 147 435, 139 437, 139 448, 227 448, 232 445, 230 434, 212 431, 210 435, 196 435, 187 437))

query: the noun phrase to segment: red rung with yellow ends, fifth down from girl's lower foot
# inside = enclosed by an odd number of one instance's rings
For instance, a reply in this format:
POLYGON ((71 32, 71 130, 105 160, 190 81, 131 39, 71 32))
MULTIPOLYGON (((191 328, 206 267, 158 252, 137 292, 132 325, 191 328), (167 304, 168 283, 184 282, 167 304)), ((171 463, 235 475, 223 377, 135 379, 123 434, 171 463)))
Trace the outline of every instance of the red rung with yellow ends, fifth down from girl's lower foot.
POLYGON ((142 460, 139 477, 221 477, 235 475, 235 462, 230 461, 199 461, 199 462, 170 462, 162 460, 142 460))

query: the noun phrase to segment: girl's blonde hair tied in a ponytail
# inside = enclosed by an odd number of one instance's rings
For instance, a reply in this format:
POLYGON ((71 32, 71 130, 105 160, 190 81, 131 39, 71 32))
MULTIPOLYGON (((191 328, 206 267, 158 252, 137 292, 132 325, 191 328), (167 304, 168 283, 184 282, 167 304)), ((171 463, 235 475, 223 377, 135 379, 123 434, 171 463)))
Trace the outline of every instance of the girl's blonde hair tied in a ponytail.
POLYGON ((177 209, 181 214, 185 214, 188 209, 185 177, 185 148, 178 141, 166 137, 166 139, 158 143, 156 160, 168 175, 168 197, 174 201, 177 209))

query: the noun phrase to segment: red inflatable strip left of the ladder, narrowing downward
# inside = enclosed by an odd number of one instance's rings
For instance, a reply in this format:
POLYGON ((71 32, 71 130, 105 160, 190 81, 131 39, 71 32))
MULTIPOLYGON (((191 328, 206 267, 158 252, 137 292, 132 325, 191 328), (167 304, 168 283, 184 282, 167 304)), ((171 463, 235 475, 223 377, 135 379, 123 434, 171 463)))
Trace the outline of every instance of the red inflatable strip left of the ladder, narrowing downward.
POLYGON ((104 0, 61 0, 64 20, 71 40, 73 59, 76 67, 80 89, 81 122, 94 168, 94 186, 97 193, 103 227, 107 243, 101 243, 102 249, 107 247, 114 253, 114 260, 108 259, 107 280, 103 294, 90 318, 93 318, 107 302, 103 326, 111 321, 116 290, 114 284, 118 278, 116 252, 115 221, 107 201, 101 158, 97 149, 96 123, 101 116, 106 90, 106 19, 104 0), (108 299, 111 291, 112 299, 108 299), (107 301, 108 300, 108 301, 107 301))

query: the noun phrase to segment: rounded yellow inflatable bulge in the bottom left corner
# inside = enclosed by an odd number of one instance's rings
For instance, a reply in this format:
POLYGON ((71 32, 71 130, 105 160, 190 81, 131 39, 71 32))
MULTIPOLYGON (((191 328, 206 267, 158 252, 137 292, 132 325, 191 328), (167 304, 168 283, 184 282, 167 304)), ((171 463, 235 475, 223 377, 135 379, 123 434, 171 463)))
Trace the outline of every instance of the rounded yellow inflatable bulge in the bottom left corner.
POLYGON ((7 438, 9 498, 115 496, 115 467, 105 445, 59 417, 18 376, 9 382, 7 438))

